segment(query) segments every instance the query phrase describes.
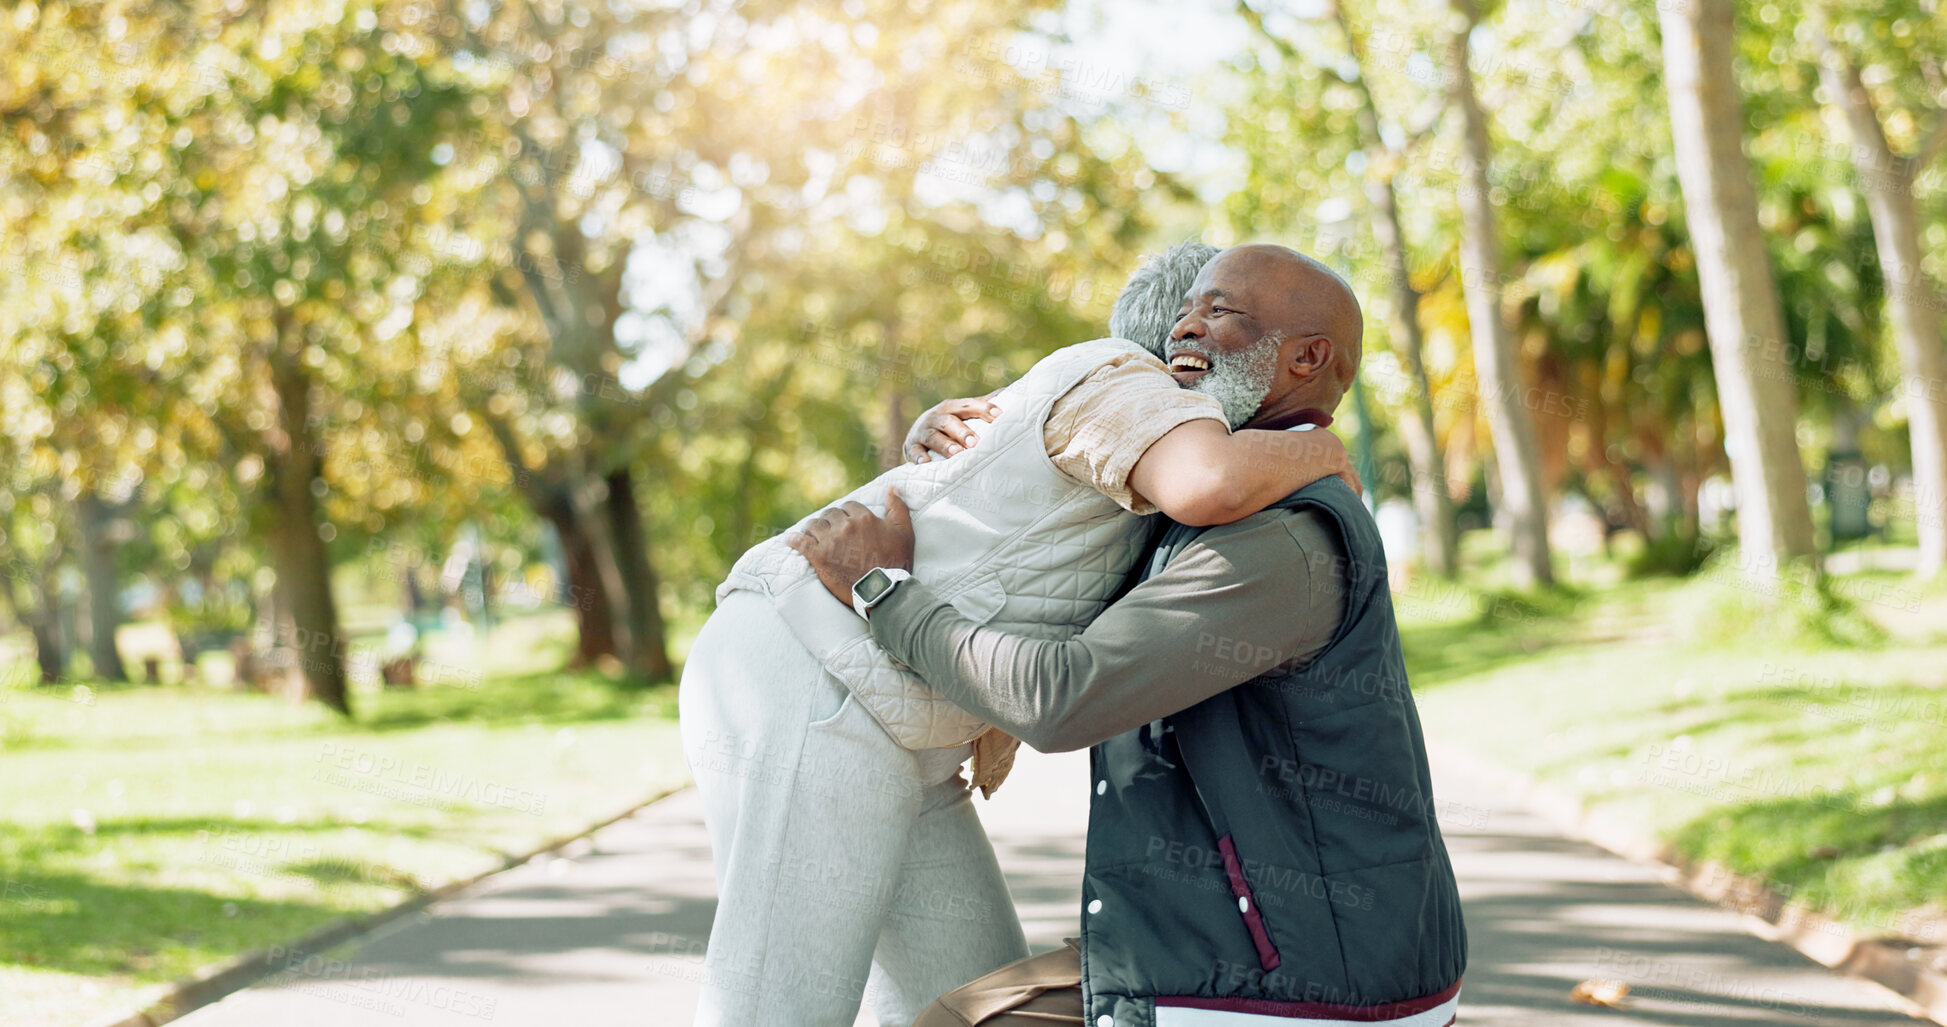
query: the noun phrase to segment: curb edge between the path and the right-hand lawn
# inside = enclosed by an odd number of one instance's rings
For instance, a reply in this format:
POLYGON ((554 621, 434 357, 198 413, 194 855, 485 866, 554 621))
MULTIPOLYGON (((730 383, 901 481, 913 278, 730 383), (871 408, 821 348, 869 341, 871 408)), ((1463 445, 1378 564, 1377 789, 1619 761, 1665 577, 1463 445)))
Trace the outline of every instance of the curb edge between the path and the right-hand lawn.
POLYGON ((1770 926, 1770 932, 1752 933, 1789 945, 1820 967, 1871 980, 1898 996, 1908 1015, 1947 1025, 1947 974, 1910 959, 1906 945, 1863 937, 1838 920, 1791 902, 1762 877, 1739 875, 1708 859, 1686 859, 1669 844, 1645 836, 1616 817, 1591 811, 1581 799, 1530 774, 1495 764, 1452 742, 1429 739, 1427 748, 1441 760, 1505 789, 1521 809, 1548 820, 1569 838, 1634 863, 1659 865, 1686 894, 1770 926))

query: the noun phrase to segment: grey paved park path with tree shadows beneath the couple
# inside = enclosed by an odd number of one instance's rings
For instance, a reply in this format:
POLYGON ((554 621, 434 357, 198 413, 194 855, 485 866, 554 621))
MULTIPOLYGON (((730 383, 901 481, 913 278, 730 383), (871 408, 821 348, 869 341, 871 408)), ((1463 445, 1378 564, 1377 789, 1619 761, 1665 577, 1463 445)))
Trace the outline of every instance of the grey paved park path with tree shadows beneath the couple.
MULTIPOLYGON (((1020 764, 981 817, 1036 951, 1075 933, 1086 754, 1020 764)), ((1746 930, 1630 863, 1558 836, 1462 766, 1435 764, 1466 900, 1460 1023, 1495 1027, 1916 1025, 1891 992, 1746 930), (1585 978, 1630 984, 1579 1006, 1585 978)), ((565 857, 493 877, 175 1023, 181 1027, 687 1025, 713 910, 693 791, 565 857)), ((870 1013, 861 1013, 870 1025, 870 1013)), ((759 1025, 752 1025, 759 1027, 759 1025)))

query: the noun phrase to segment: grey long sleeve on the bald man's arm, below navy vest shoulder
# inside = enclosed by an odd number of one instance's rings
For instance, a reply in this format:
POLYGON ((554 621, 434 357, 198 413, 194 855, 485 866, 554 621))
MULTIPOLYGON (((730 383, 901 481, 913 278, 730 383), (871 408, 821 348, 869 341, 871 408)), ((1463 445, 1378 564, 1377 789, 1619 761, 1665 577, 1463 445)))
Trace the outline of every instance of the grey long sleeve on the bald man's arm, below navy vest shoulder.
POLYGON ((1328 514, 1271 509, 1205 530, 1069 641, 981 628, 921 581, 894 589, 870 626, 962 709, 1065 752, 1303 666, 1338 631, 1343 575, 1328 514))

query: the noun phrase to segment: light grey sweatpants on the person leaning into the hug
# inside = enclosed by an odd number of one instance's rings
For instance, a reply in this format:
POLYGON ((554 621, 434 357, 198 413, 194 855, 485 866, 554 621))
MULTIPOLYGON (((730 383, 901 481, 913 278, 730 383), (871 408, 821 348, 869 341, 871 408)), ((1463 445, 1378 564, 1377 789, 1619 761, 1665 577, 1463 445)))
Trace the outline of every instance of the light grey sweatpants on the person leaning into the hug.
POLYGON ((960 778, 911 752, 757 592, 703 626, 678 698, 703 797, 716 922, 697 1027, 880 1027, 1028 955, 960 778))

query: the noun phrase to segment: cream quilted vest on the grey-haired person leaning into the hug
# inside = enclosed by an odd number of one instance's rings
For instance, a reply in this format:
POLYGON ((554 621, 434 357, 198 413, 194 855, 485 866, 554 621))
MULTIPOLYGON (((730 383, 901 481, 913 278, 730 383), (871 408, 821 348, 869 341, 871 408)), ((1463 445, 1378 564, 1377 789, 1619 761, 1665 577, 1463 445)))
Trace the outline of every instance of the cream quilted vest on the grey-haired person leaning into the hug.
MULTIPOLYGON (((977 446, 952 460, 894 468, 839 503, 859 501, 884 514, 886 485, 898 485, 913 509, 913 577, 927 589, 1003 631, 1042 639, 1081 633, 1129 575, 1147 528, 1143 516, 1061 474, 1047 458, 1042 425, 1055 399, 1131 349, 1141 347, 1096 339, 1049 353, 995 398, 1001 417, 983 427, 977 446)), ((716 587, 718 602, 736 589, 769 594, 798 641, 905 748, 954 746, 987 729, 880 649, 864 620, 826 590, 783 536, 736 561, 716 587)))

